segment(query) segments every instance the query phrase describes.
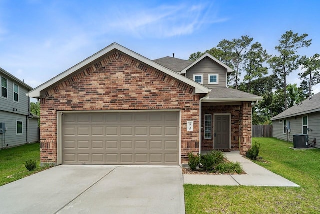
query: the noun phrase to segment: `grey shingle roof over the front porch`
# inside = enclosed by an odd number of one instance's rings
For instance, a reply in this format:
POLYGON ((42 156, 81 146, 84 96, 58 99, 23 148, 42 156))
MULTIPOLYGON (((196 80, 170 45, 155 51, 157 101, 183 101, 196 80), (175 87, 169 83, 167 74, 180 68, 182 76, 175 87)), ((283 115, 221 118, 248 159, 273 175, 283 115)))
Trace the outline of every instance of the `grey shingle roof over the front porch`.
POLYGON ((202 102, 236 102, 236 101, 257 101, 262 97, 239 91, 233 88, 213 88, 209 96, 202 102))

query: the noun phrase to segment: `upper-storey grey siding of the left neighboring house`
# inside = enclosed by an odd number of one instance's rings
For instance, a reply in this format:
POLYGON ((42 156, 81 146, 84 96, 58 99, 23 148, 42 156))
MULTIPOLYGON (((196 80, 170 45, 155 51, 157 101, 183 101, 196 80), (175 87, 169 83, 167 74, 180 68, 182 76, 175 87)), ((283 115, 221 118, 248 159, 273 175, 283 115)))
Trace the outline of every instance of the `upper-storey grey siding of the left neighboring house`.
POLYGON ((18 114, 28 115, 28 89, 20 85, 18 82, 13 81, 8 76, 0 73, 0 76, 7 79, 7 93, 8 97, 3 98, 0 96, 0 110, 14 112, 18 114), (19 99, 15 102, 13 99, 13 83, 19 86, 19 99), (14 111, 13 111, 14 108, 14 111))

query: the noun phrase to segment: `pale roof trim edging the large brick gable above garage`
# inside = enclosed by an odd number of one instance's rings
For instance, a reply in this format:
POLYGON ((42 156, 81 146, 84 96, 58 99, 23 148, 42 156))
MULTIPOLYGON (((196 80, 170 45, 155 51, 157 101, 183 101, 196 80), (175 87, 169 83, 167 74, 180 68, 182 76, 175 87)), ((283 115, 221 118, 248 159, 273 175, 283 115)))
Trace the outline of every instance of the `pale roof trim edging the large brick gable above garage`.
POLYGON ((168 68, 165 68, 164 66, 162 66, 162 65, 160 65, 158 63, 155 63, 152 60, 150 60, 150 59, 148 59, 146 57, 143 57, 140 54, 137 54, 136 52, 133 52, 133 51, 131 51, 131 50, 129 50, 129 49, 117 44, 117 43, 112 43, 109 46, 105 47, 104 49, 102 49, 102 50, 98 51, 97 53, 93 54, 92 56, 86 58, 82 62, 76 64, 75 66, 69 68, 68 70, 60 73, 59 75, 53 77, 52 79, 46 81, 45 83, 43 83, 41 85, 39 85, 38 87, 36 87, 35 89, 33 89, 32 91, 29 92, 29 96, 30 97, 35 97, 35 98, 40 97, 40 92, 41 91, 51 87, 52 85, 56 84, 57 82, 65 79, 66 77, 72 75, 73 73, 79 71, 80 69, 83 69, 88 64, 94 62, 95 60, 103 57, 104 55, 106 55, 106 54, 108 54, 108 53, 110 53, 110 52, 112 52, 114 50, 121 51, 121 52, 123 52, 123 53, 125 53, 125 54, 127 54, 127 55, 129 55, 129 56, 141 61, 142 63, 145 63, 146 65, 149 65, 149 66, 151 66, 151 67, 153 67, 153 68, 155 68, 155 69, 157 69, 159 71, 162 71, 165 74, 170 75, 171 77, 174 77, 174 78, 176 78, 176 79, 178 79, 178 80, 180 80, 180 81, 182 81, 182 82, 194 87, 195 88, 195 93, 199 93, 199 94, 200 93, 204 93, 204 94, 206 94, 206 93, 208 93, 210 91, 207 87, 205 87, 205 86, 203 86, 203 85, 201 85, 201 84, 199 84, 199 83, 197 83, 197 82, 195 82, 195 81, 193 81, 193 80, 191 80, 191 79, 189 79, 187 77, 184 77, 184 76, 182 76, 182 75, 180 75, 180 74, 178 74, 178 73, 176 73, 176 72, 174 72, 174 71, 172 71, 172 70, 170 70, 168 68))

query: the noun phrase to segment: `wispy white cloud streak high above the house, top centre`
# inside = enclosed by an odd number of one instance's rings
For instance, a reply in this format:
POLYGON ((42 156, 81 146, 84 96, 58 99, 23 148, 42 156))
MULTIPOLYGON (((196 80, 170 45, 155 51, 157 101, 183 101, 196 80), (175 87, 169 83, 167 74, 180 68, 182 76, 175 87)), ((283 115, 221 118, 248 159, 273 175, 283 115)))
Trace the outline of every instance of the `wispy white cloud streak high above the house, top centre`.
POLYGON ((173 37, 192 34, 204 24, 225 22, 216 18, 211 5, 162 5, 156 8, 140 8, 128 13, 125 9, 116 13, 109 23, 113 31, 121 31, 136 37, 173 37))

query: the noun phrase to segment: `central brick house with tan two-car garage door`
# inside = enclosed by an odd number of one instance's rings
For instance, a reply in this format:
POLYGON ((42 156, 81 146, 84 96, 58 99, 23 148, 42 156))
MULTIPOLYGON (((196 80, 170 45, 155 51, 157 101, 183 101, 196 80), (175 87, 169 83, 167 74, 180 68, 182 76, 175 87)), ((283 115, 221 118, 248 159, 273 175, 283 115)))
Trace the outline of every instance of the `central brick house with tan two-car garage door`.
POLYGON ((189 152, 251 147, 252 102, 227 88, 230 69, 149 60, 113 43, 33 89, 41 108, 41 162, 181 165, 189 152))

